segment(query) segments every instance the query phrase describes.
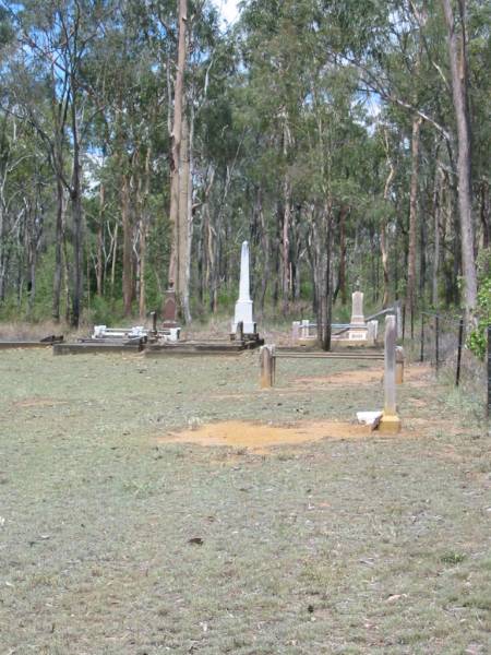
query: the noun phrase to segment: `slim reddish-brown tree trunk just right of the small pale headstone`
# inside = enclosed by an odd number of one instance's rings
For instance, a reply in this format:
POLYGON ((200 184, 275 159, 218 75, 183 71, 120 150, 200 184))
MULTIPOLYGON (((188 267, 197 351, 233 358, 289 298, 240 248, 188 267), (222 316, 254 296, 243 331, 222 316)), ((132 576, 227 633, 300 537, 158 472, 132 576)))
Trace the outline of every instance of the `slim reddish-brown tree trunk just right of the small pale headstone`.
MULTIPOLYGON (((416 302, 416 250, 418 235, 418 178, 419 178, 419 144, 420 144, 421 118, 412 119, 411 138, 411 182, 409 192, 409 245, 406 290, 406 319, 414 324, 416 302)), ((411 338, 412 338, 411 334, 411 338)))

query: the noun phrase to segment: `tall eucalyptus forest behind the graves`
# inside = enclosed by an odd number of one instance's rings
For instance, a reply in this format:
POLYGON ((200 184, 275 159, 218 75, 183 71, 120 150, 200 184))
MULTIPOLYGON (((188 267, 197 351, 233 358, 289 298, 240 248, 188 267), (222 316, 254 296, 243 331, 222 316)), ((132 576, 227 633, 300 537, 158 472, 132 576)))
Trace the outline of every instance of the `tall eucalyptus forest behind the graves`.
POLYGON ((487 0, 0 2, 0 319, 491 309, 487 0))

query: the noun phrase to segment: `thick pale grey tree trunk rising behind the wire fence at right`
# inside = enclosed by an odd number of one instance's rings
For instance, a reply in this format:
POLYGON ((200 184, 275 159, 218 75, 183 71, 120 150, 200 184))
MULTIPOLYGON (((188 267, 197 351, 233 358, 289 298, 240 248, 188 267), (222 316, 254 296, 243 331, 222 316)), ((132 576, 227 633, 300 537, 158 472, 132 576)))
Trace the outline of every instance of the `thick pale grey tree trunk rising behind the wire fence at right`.
POLYGON ((458 0, 460 36, 457 36, 451 0, 442 0, 447 29, 448 58, 452 74, 454 111, 457 123, 458 209, 460 217, 462 267, 464 300, 471 318, 477 302, 477 273, 474 252, 474 223, 471 196, 470 114, 467 97, 466 0, 458 0))

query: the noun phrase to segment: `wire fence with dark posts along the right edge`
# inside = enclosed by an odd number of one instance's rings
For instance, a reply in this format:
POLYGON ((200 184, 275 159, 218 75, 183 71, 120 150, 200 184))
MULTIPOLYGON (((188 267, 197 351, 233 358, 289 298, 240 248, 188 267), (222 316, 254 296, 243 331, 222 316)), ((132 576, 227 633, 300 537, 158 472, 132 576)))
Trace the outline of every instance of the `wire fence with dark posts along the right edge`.
POLYGON ((491 417, 491 325, 488 325, 488 352, 478 359, 466 346, 463 315, 422 311, 419 325, 411 329, 412 357, 431 364, 436 374, 446 376, 460 388, 488 418, 491 417))

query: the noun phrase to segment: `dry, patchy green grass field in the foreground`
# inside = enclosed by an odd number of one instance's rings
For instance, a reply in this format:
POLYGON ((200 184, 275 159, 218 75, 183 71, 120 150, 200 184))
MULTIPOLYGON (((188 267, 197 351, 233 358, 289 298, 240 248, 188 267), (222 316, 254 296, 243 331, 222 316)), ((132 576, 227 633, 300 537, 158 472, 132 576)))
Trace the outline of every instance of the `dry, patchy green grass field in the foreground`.
POLYGON ((0 655, 491 653, 489 432, 408 373, 400 436, 258 452, 168 438, 352 420, 380 364, 2 352, 0 655))

